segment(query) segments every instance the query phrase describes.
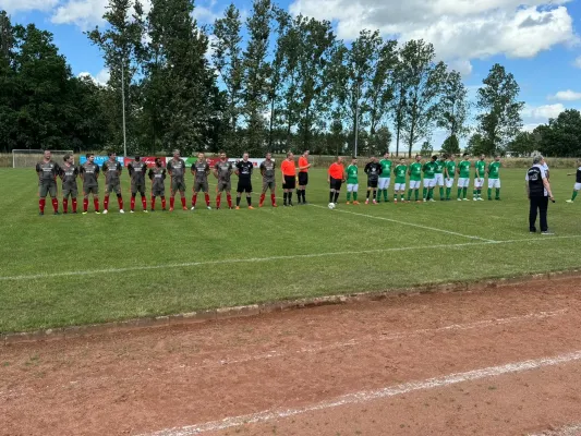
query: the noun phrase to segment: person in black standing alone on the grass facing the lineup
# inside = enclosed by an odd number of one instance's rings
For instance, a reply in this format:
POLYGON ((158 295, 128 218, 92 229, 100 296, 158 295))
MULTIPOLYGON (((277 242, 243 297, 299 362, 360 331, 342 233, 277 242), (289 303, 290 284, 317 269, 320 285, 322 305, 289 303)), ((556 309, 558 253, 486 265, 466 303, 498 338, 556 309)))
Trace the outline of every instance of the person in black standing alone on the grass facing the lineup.
POLYGON ((538 211, 541 219, 541 233, 553 234, 548 230, 547 225, 547 209, 548 201, 555 203, 553 192, 550 191, 550 184, 548 182, 547 174, 544 169, 545 158, 543 156, 536 156, 533 159, 533 166, 529 168, 525 177, 526 196, 531 203, 529 211, 529 230, 531 233, 536 233, 536 215, 538 211))

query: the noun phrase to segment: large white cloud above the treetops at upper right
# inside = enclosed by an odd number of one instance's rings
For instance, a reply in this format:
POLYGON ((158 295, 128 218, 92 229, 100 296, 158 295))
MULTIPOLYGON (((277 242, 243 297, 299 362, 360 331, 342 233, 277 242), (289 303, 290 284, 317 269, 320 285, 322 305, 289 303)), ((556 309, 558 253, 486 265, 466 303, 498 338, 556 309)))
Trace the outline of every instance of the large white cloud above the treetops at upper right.
MULTIPOLYGON (((495 55, 532 58, 577 41, 567 0, 294 0, 293 14, 337 22, 353 39, 378 28, 400 40, 423 38, 445 60, 465 62, 495 55), (548 7, 548 3, 553 5, 548 7)), ((467 64, 468 65, 468 64, 467 64)))

